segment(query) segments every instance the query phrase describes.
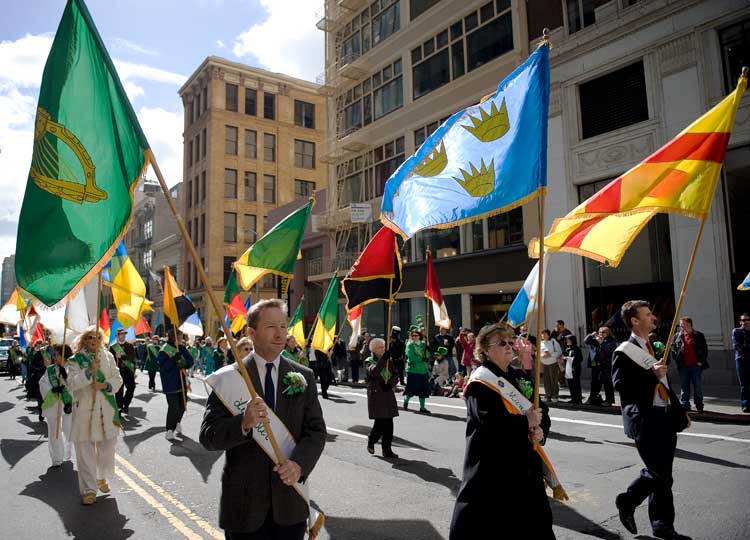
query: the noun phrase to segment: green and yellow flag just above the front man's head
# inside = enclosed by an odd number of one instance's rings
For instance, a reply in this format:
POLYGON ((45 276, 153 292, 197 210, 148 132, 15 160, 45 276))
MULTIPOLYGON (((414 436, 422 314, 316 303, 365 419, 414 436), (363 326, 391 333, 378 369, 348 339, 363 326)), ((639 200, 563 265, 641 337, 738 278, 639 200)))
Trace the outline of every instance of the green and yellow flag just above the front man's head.
MULTIPOLYGON (((245 290, 266 274, 290 278, 297 264, 302 237, 315 199, 295 210, 255 242, 234 263, 240 285, 245 290)), ((288 284, 288 280, 286 280, 288 284)), ((282 290, 282 294, 286 291, 282 290)))

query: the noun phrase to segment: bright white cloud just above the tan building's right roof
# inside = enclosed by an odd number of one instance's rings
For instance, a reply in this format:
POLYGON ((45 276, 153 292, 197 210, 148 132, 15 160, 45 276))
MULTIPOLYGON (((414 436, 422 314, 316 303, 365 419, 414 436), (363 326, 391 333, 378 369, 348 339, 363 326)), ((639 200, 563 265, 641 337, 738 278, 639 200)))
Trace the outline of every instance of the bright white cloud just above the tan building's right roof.
POLYGON ((260 0, 268 14, 234 39, 239 58, 254 56, 271 71, 314 81, 324 69, 323 32, 315 27, 317 2, 260 0))

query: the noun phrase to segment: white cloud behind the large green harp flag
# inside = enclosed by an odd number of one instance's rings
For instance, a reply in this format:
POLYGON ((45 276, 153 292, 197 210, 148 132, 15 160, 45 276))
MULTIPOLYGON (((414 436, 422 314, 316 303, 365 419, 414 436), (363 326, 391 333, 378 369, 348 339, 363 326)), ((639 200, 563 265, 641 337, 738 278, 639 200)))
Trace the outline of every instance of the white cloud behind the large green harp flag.
MULTIPOLYGON (((52 35, 0 41, 0 260, 15 251, 16 229, 29 174, 34 118, 52 35)), ((186 77, 147 64, 114 60, 146 137, 170 186, 182 180, 182 110, 148 102, 154 85, 178 87, 186 77)), ((154 177, 153 173, 150 175, 154 177)))

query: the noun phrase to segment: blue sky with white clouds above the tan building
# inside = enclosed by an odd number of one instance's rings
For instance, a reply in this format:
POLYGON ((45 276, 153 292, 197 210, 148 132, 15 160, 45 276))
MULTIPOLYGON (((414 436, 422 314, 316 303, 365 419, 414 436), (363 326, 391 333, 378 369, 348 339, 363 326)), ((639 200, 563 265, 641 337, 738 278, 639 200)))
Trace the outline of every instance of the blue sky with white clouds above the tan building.
MULTIPOLYGON (((2 0, 0 261, 15 252, 44 64, 66 0, 2 0)), ((180 86, 210 55, 314 81, 322 0, 86 0, 167 183, 182 180, 180 86)), ((152 171, 149 178, 155 179, 152 171)))

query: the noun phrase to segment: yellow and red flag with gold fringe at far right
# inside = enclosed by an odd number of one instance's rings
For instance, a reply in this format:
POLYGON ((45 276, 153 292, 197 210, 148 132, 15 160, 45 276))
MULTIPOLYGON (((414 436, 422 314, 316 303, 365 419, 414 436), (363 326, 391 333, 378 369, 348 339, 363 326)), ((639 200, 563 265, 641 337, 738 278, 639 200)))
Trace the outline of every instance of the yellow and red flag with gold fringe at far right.
MULTIPOLYGON (((611 266, 658 213, 705 218, 716 191, 747 77, 737 89, 654 154, 552 223, 547 251, 567 251, 611 266)), ((529 244, 539 257, 539 240, 529 244)))

